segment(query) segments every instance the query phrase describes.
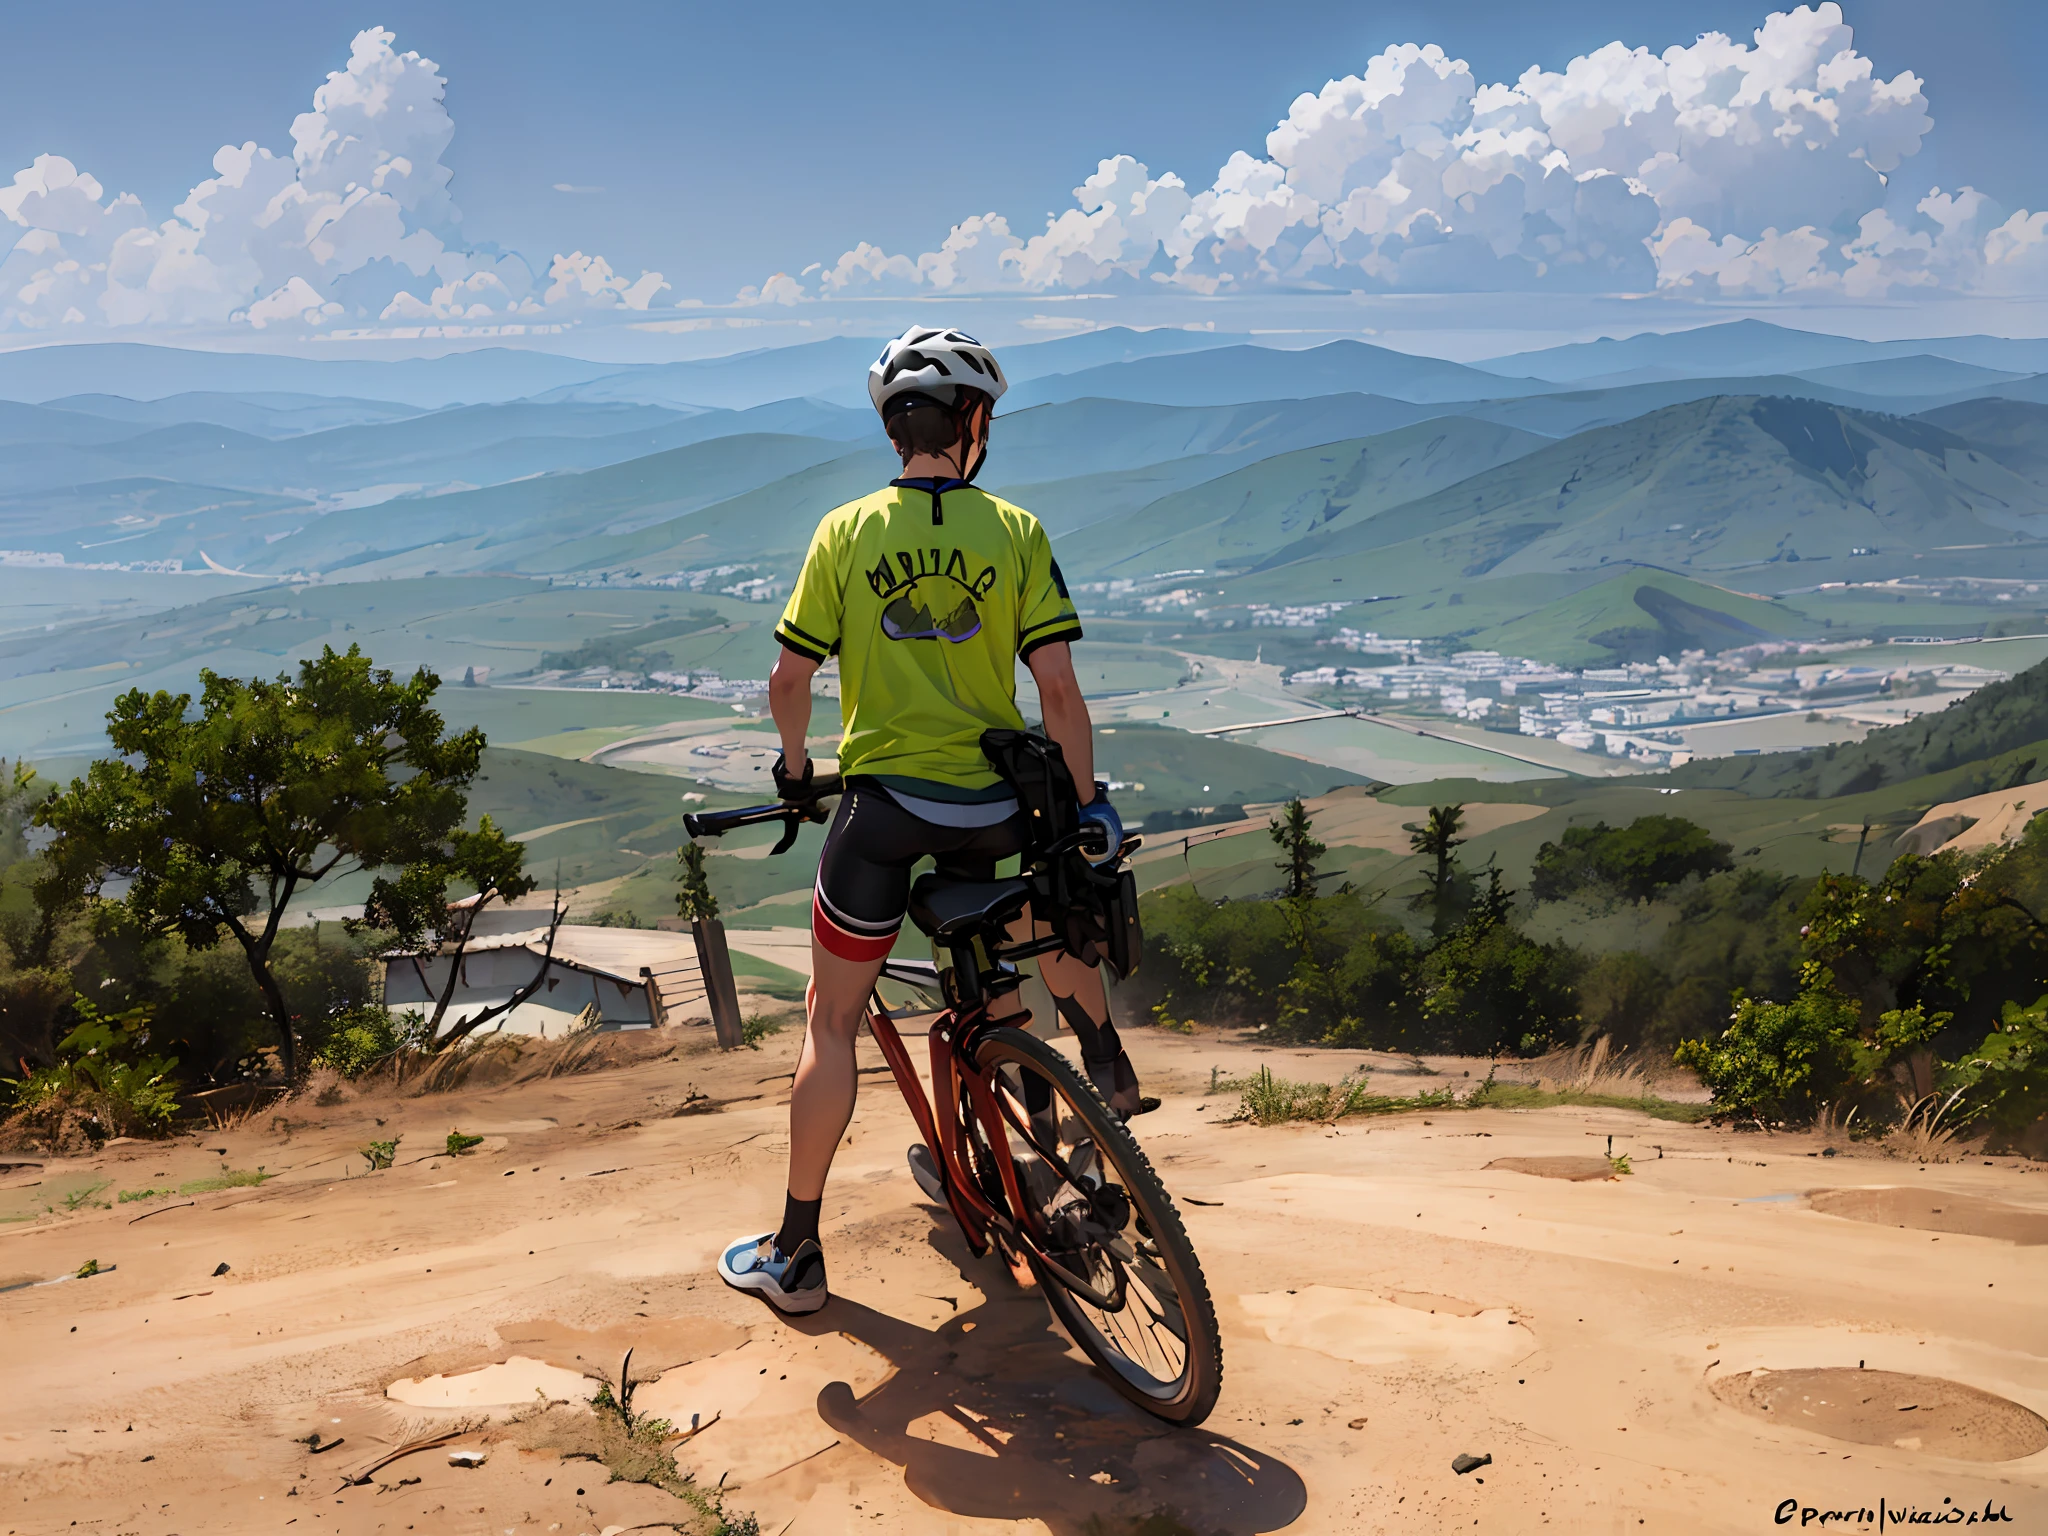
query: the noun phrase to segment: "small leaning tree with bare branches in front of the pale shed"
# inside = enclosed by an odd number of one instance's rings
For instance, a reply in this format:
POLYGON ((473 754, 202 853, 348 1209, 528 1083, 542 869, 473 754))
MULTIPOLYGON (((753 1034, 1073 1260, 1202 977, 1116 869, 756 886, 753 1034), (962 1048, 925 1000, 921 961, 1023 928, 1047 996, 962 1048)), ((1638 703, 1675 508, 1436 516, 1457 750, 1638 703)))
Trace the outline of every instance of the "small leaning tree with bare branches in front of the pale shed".
POLYGON ((547 944, 532 979, 502 1004, 463 1014, 453 1028, 442 1032, 455 989, 463 979, 463 954, 477 932, 477 918, 492 901, 518 901, 535 885, 539 881, 526 874, 526 844, 512 842, 489 817, 483 817, 475 831, 453 834, 442 858, 420 860, 406 866, 395 881, 379 877, 371 887, 371 899, 362 909, 367 924, 389 928, 397 934, 399 944, 422 948, 424 954, 449 963, 449 979, 442 983, 440 995, 434 999, 434 1014, 422 1030, 422 1042, 428 1051, 444 1051, 541 991, 553 969, 555 934, 561 930, 559 891, 549 907, 547 944), (451 903, 449 887, 455 883, 467 885, 473 895, 451 903))

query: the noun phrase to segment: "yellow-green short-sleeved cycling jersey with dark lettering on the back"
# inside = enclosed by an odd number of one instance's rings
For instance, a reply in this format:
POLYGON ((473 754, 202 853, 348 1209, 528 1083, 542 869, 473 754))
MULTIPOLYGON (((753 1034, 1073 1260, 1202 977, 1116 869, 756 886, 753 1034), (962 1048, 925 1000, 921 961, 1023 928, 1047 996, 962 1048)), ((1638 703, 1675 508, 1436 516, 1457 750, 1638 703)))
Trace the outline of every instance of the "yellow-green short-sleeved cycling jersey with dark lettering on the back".
POLYGON ((1024 725, 1016 659, 1081 637, 1030 512, 965 483, 895 481, 817 524, 776 639, 840 657, 842 774, 997 784, 981 733, 1024 725))

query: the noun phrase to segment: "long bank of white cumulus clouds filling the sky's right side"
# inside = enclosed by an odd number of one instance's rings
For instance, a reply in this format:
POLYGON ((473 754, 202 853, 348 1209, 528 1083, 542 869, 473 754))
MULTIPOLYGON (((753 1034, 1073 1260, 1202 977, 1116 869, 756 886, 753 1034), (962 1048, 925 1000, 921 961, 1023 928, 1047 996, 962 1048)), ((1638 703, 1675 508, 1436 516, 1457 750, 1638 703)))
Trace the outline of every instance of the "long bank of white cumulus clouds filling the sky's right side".
POLYGON ((1305 92, 1208 186, 1114 156, 1038 233, 997 213, 936 252, 858 244, 741 301, 838 293, 1653 289, 1872 297, 2048 289, 2048 217, 1911 188, 1933 119, 1827 0, 1747 43, 1608 43, 1483 84, 1405 43, 1305 92))

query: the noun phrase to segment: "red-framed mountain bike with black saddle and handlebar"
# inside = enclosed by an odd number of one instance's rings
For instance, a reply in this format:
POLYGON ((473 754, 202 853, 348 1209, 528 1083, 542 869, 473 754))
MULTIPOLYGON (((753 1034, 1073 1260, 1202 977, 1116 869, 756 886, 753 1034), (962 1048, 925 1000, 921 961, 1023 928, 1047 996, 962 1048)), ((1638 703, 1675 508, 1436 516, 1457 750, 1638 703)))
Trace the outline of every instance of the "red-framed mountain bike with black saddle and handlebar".
MULTIPOLYGON (((700 811, 684 825, 692 838, 719 838, 780 821, 780 854, 803 823, 827 819, 821 801, 842 784, 834 776, 813 788, 811 801, 700 811)), ((1126 838, 1118 862, 1137 846, 1126 838)), ((1018 961, 1063 944, 1010 930, 1034 899, 1049 899, 1051 860, 1067 852, 1055 844, 1012 879, 934 872, 911 887, 909 920, 936 958, 891 956, 883 977, 944 1004, 930 1026, 930 1098, 879 987, 868 1032, 975 1257, 993 1247, 1014 1270, 1026 1266, 1053 1319, 1118 1393, 1167 1423, 1196 1425, 1223 1386, 1223 1339, 1180 1212, 1087 1077, 1022 1028, 1030 1014, 991 1012, 1022 985, 1018 961)))

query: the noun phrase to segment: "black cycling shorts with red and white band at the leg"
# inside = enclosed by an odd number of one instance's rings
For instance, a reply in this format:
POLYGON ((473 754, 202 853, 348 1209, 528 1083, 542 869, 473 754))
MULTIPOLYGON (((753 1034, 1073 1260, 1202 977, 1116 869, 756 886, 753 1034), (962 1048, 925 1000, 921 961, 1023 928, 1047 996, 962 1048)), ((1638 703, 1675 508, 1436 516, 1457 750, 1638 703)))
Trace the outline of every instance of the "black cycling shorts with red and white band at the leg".
POLYGON ((1030 821, 1018 811, 987 827, 942 827, 911 815, 889 791, 854 778, 825 834, 811 895, 811 936, 842 961, 881 961, 909 909, 920 858, 961 881, 993 881, 997 860, 1024 850, 1030 821))

